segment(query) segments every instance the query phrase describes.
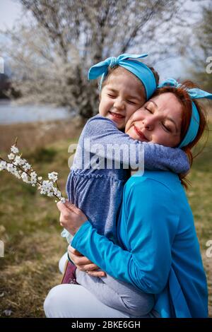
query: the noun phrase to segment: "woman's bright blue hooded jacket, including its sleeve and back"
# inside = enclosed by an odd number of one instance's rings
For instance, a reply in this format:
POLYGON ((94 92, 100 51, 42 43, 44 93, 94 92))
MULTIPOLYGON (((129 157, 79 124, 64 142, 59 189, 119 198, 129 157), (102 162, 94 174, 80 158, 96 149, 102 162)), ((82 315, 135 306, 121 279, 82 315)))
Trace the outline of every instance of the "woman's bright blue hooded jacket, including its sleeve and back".
POLYGON ((161 317, 208 316, 194 219, 177 174, 134 174, 124 186, 117 230, 119 245, 86 221, 71 245, 114 278, 155 294, 161 317))

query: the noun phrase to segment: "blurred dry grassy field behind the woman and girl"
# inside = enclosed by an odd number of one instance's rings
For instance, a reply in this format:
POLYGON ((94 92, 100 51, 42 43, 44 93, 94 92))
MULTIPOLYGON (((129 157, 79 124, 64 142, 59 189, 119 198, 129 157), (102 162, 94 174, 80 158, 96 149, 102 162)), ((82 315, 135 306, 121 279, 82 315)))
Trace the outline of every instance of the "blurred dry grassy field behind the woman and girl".
MULTIPOLYGON (((80 128, 74 123, 0 126, 1 157, 19 137, 20 150, 38 174, 59 173, 65 195, 69 174, 68 146, 76 143, 80 128), (31 129, 29 129, 31 126, 31 129), (52 129, 51 129, 52 126, 52 129), (40 138, 39 138, 40 133, 40 138)), ((212 125, 210 125, 212 129, 212 125)), ((206 257, 206 242, 212 240, 212 136, 204 152, 194 160, 188 191, 196 232, 208 278, 209 312, 212 317, 212 257, 206 257)), ((40 196, 35 188, 11 174, 0 173, 0 239, 5 256, 0 258, 0 316, 43 317, 43 302, 49 289, 61 280, 58 261, 67 244, 60 237, 59 212, 54 199, 40 196)))

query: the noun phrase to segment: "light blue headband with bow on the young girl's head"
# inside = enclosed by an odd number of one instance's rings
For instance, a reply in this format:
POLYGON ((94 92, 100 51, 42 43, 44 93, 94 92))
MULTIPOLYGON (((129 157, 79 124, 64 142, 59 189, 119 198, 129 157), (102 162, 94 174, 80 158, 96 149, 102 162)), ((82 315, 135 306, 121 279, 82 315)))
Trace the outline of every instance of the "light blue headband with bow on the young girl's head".
POLYGON ((102 88, 102 82, 107 76, 108 67, 112 68, 114 66, 122 66, 127 71, 131 71, 135 76, 141 80, 143 86, 146 90, 146 99, 148 100, 156 89, 155 76, 151 69, 148 68, 141 61, 135 59, 141 59, 147 57, 148 54, 121 54, 119 57, 110 57, 104 61, 95 64, 90 67, 88 71, 88 79, 93 80, 102 75, 100 81, 100 90, 102 88))

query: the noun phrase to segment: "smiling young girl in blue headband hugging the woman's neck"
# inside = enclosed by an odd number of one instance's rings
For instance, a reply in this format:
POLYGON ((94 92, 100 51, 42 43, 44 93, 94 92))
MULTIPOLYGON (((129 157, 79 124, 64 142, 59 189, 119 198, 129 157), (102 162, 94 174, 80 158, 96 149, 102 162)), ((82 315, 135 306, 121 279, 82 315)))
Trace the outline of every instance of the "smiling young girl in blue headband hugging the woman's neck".
MULTIPOLYGON (((94 227, 100 235, 107 236, 114 243, 117 242, 116 220, 123 188, 129 178, 126 166, 129 168, 131 147, 136 150, 136 164, 139 160, 143 161, 144 154, 144 167, 149 170, 172 170, 177 173, 189 170, 189 161, 182 150, 148 143, 141 134, 140 141, 133 140, 119 130, 124 129, 131 114, 151 97, 158 84, 153 71, 137 60, 145 56, 122 54, 91 67, 89 78, 102 75, 100 114, 90 119, 82 131, 66 184, 69 201, 81 208, 91 223, 95 220, 94 227), (88 139, 89 148, 85 144, 88 139), (108 168, 105 165, 108 161, 105 150, 114 143, 125 149, 122 155, 112 153, 110 158, 113 164, 108 168), (97 144, 104 149, 97 149, 97 144), (87 156, 89 153, 88 158, 85 158, 86 153, 87 156), (116 162, 120 162, 120 167, 115 167, 116 162), (90 165, 92 163, 95 167, 90 165)), ((62 236, 70 242, 71 235, 66 230, 62 236)), ((83 271, 76 271, 76 267, 69 262, 63 283, 80 283, 103 303, 132 316, 153 314, 149 314, 154 305, 153 295, 144 294, 110 275, 107 278, 93 278, 83 271), (107 287, 107 292, 100 292, 97 284, 107 287)))

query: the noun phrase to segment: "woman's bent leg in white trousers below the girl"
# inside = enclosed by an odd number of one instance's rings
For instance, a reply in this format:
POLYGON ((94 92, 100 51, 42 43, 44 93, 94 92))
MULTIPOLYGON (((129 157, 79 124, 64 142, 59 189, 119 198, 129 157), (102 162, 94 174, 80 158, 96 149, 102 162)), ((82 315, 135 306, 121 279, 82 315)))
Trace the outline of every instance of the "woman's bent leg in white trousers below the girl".
POLYGON ((81 285, 57 285, 44 303, 48 318, 130 318, 119 310, 107 307, 81 285))

